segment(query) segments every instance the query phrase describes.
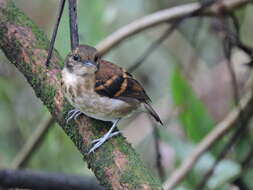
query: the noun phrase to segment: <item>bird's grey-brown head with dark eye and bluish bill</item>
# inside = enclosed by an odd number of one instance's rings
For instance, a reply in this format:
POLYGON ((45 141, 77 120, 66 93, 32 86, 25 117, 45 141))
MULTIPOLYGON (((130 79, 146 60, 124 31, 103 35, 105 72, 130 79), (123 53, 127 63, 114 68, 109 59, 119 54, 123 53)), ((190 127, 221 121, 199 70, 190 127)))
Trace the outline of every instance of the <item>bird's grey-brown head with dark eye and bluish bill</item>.
POLYGON ((95 48, 79 45, 68 54, 64 67, 68 72, 78 76, 92 75, 98 69, 99 59, 95 48))

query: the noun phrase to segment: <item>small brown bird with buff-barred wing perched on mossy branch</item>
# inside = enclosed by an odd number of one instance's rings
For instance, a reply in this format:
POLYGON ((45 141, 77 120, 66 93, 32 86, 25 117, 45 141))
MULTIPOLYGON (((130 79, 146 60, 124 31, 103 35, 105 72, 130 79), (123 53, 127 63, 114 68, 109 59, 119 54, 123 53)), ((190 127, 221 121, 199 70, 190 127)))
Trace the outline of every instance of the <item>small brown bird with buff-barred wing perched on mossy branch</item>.
MULTIPOLYGON (((66 58, 62 70, 62 89, 74 110, 68 120, 81 113, 103 121, 113 122, 110 130, 94 140, 89 153, 95 151, 106 140, 119 134, 113 132, 118 121, 140 108, 156 121, 161 119, 150 106, 141 84, 119 66, 102 60, 95 48, 79 45, 66 58)), ((68 121, 67 120, 67 121, 68 121)))

